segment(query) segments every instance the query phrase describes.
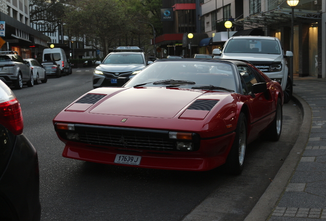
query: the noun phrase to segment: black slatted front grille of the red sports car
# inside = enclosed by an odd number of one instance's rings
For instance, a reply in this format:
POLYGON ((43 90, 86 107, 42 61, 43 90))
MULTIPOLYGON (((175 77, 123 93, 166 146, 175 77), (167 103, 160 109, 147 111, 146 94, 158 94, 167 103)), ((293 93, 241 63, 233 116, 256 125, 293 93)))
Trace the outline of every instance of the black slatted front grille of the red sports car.
POLYGON ((169 139, 168 131, 154 132, 153 130, 84 125, 75 125, 75 130, 80 142, 91 145, 160 151, 175 150, 175 143, 169 139))

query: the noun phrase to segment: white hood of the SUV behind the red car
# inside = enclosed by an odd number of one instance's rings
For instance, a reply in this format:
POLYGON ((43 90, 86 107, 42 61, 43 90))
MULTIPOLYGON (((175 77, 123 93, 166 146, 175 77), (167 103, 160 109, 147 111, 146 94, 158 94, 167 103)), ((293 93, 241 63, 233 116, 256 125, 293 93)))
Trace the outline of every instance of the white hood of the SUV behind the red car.
POLYGON ((243 54, 243 53, 224 53, 221 57, 222 59, 238 59, 238 60, 247 60, 247 61, 281 61, 283 55, 275 54, 243 54))

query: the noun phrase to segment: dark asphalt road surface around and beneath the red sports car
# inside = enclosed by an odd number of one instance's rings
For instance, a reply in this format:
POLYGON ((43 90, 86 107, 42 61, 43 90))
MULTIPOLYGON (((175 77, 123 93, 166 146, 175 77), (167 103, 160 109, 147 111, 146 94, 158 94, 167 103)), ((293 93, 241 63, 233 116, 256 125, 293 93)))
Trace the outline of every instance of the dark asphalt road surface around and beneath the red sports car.
POLYGON ((64 144, 52 119, 90 90, 92 69, 73 69, 72 75, 13 90, 21 103, 24 134, 38 151, 43 221, 191 220, 187 214, 196 207, 207 210, 195 214, 205 215, 202 220, 243 220, 288 156, 302 120, 292 101, 285 104, 280 141, 252 143, 239 176, 220 169, 166 171, 63 158, 64 144), (205 199, 209 207, 200 204, 205 199))

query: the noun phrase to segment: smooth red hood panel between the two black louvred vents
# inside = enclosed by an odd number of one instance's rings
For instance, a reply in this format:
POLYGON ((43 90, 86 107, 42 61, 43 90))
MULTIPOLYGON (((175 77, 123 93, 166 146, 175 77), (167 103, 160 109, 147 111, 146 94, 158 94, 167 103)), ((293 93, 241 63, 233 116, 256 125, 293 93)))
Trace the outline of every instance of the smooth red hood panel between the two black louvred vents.
POLYGON ((169 89, 166 87, 131 87, 114 93, 106 100, 99 101, 89 113, 173 118, 205 93, 205 91, 199 90, 169 89))

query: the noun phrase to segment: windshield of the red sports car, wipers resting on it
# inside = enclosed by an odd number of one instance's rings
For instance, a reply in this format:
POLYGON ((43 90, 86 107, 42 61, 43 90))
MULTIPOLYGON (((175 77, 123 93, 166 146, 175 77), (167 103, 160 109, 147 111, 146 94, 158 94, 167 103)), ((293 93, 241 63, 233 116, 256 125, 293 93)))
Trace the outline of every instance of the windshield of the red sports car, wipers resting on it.
POLYGON ((193 60, 185 62, 181 59, 157 60, 135 75, 126 86, 174 86, 205 90, 220 90, 217 87, 222 87, 232 91, 236 89, 231 64, 193 60))

